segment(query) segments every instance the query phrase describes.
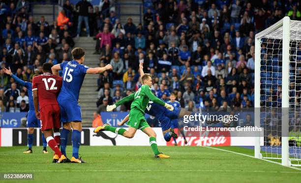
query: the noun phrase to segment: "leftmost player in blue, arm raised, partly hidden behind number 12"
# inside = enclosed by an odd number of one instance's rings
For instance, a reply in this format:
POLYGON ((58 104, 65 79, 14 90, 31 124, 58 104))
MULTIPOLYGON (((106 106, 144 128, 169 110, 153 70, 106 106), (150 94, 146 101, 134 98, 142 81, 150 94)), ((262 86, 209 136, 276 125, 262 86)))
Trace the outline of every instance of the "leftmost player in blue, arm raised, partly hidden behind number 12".
MULTIPOLYGON (((16 82, 19 82, 22 86, 25 86, 27 88, 28 98, 29 98, 29 105, 30 105, 30 110, 28 111, 28 115, 27 115, 28 150, 23 152, 23 153, 32 153, 32 141, 33 141, 34 128, 41 128, 40 120, 36 119, 36 117, 35 117, 33 99, 32 99, 32 83, 24 81, 24 80, 16 77, 15 75, 13 75, 10 68, 8 68, 8 69, 3 68, 3 71, 4 71, 5 74, 10 75, 16 82)), ((33 77, 35 77, 35 76, 38 76, 38 75, 33 75, 33 77)), ((47 148, 46 148, 47 147, 47 141, 46 141, 43 133, 42 133, 42 139, 43 139, 43 153, 48 153, 47 148)))

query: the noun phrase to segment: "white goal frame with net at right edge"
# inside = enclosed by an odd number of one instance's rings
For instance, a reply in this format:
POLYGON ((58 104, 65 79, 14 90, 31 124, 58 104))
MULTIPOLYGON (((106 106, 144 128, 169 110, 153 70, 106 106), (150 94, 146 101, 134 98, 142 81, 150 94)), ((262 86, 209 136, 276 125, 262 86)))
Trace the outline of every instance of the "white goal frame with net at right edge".
POLYGON ((256 34, 255 116, 264 129, 255 157, 301 166, 301 21, 285 17, 256 34))

